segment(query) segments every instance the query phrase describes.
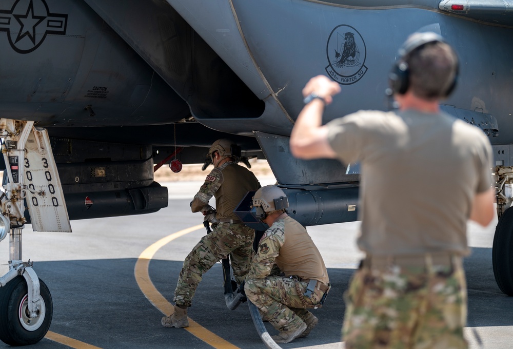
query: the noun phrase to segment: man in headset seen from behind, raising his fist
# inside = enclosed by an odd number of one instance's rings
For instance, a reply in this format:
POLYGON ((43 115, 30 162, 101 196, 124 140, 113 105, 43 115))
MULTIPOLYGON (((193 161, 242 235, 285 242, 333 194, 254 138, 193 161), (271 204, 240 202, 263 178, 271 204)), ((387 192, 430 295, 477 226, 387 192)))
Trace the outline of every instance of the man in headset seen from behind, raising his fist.
POLYGON ((440 111, 458 77, 456 52, 440 35, 415 33, 398 56, 389 82, 399 110, 361 110, 323 126, 341 88, 313 77, 290 149, 361 164, 366 257, 346 293, 346 348, 466 348, 466 224, 494 217, 491 145, 440 111))

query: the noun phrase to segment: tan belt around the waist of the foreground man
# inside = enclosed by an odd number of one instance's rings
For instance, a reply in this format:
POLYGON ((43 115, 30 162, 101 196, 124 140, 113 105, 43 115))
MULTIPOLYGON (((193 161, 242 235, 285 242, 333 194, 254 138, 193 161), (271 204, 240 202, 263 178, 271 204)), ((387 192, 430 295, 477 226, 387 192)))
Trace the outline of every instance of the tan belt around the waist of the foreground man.
POLYGON ((419 255, 401 256, 367 256, 361 261, 361 266, 371 269, 385 270, 391 266, 424 267, 447 266, 452 267, 461 263, 461 257, 449 252, 435 252, 419 255))

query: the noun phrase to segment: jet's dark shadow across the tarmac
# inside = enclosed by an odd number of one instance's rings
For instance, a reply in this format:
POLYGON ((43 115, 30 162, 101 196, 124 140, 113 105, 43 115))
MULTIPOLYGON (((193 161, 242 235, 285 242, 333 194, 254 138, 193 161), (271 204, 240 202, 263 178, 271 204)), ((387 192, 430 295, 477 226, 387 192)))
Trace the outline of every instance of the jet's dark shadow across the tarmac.
MULTIPOLYGON (((34 268, 52 294, 50 331, 101 348, 210 348, 182 329, 164 328, 163 314, 143 295, 134 278, 136 259, 36 262, 34 268)), ((149 275, 155 287, 172 302, 182 262, 152 260, 149 275)), ((468 326, 511 326, 511 298, 499 290, 491 264, 491 248, 472 248, 465 259, 468 285, 468 326)), ((340 342, 344 315, 343 293, 353 269, 329 268, 331 292, 323 307, 313 310, 320 320, 303 339, 283 344, 299 348, 340 342)), ((222 266, 216 263, 204 275, 189 309, 189 317, 241 348, 262 348, 247 304, 235 311, 226 308, 222 266)), ((269 323, 269 333, 275 334, 269 323)), ((0 347, 7 347, 0 343, 0 347)), ((35 348, 64 348, 48 339, 35 348)))

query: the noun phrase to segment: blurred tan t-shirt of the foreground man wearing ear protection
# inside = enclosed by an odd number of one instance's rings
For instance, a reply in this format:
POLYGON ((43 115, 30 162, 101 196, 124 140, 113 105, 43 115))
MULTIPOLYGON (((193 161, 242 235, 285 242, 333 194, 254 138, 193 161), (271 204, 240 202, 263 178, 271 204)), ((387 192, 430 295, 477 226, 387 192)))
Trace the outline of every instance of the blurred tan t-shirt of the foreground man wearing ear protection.
POLYGON ((327 126, 340 160, 361 163, 362 250, 468 253, 473 198, 491 185, 491 145, 479 128, 413 110, 359 111, 327 126))

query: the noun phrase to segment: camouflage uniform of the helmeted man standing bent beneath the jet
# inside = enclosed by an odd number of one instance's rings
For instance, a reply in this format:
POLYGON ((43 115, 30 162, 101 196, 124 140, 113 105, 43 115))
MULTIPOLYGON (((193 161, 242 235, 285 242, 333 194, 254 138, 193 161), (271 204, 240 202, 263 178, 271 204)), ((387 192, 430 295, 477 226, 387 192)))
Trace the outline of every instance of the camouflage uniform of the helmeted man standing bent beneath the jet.
POLYGON ((253 173, 234 162, 226 162, 209 173, 194 196, 191 209, 199 212, 215 197, 216 219, 220 223, 214 224, 212 232, 186 257, 174 291, 176 304, 190 306, 203 274, 227 256, 231 259, 235 281, 244 281, 253 254, 254 230, 242 224, 233 210, 248 191, 258 188, 260 183, 253 173))

